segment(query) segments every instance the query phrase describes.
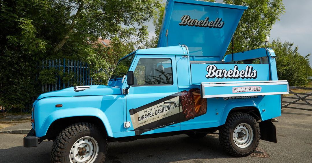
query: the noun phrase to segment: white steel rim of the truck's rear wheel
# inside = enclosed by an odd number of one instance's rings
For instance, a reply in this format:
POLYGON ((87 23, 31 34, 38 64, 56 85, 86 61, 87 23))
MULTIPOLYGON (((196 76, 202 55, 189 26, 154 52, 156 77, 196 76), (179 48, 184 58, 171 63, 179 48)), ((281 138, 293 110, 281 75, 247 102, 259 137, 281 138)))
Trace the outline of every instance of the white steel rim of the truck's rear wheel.
POLYGON ((248 147, 252 140, 254 134, 251 126, 247 123, 241 123, 236 126, 233 133, 233 140, 235 145, 240 148, 248 147))

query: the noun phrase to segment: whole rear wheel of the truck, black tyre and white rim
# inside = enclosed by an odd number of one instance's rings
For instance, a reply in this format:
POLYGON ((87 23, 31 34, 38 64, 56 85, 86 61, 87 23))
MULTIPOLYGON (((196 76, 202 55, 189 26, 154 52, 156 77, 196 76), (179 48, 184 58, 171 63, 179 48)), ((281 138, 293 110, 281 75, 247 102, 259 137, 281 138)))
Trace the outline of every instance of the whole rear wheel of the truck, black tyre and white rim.
POLYGON ((220 127, 219 140, 222 147, 233 156, 248 156, 260 141, 260 129, 256 120, 246 113, 229 114, 220 127))

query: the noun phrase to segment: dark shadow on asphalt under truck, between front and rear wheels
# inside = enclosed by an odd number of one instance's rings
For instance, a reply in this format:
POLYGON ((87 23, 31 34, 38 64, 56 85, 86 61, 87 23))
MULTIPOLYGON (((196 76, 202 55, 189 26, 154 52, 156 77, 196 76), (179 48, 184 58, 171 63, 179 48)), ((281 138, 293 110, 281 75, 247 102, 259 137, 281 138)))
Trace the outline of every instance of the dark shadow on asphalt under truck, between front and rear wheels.
POLYGON ((217 134, 208 134, 202 138, 177 135, 109 143, 105 162, 202 162, 196 159, 214 158, 232 158, 222 150, 217 134))

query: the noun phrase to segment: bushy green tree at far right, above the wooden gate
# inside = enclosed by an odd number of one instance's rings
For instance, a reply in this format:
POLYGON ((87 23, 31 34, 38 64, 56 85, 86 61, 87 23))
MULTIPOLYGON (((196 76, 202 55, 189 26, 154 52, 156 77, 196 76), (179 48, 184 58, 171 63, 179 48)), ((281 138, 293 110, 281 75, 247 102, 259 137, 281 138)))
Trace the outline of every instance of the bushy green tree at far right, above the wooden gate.
POLYGON ((307 76, 311 76, 312 69, 309 63, 310 54, 301 56, 298 46, 280 39, 273 40, 268 44, 277 56, 276 66, 279 80, 287 80, 290 86, 304 86, 308 83, 307 76))

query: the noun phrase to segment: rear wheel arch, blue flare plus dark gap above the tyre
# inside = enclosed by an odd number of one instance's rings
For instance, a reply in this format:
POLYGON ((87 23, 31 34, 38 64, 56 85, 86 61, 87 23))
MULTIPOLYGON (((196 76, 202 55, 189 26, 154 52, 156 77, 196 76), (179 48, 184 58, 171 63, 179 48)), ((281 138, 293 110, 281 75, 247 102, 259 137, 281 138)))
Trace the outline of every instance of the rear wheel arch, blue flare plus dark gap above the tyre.
POLYGON ((247 113, 253 116, 257 121, 260 119, 262 120, 260 108, 255 101, 253 100, 233 101, 224 106, 219 126, 225 124, 228 115, 233 112, 247 113))

